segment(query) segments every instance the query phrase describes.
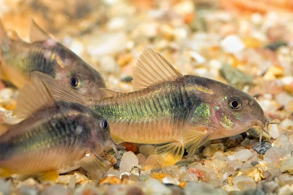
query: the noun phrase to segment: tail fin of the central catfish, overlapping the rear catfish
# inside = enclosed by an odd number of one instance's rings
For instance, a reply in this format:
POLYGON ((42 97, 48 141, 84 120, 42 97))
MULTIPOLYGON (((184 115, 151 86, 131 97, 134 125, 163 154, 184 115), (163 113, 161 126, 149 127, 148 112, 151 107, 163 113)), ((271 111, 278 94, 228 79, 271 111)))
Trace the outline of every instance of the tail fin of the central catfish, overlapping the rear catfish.
POLYGON ((42 81, 46 82, 54 99, 76 102, 83 105, 90 105, 93 100, 93 98, 81 94, 78 91, 71 89, 70 87, 67 87, 62 82, 44 73, 35 71, 31 73, 31 77, 32 76, 36 76, 42 81))

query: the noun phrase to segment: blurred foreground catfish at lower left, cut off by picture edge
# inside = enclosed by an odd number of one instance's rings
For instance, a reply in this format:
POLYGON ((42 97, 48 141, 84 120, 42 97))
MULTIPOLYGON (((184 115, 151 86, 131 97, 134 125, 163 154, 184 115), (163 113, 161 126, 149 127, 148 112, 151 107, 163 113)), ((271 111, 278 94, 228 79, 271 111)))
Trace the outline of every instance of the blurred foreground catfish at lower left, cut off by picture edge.
POLYGON ((55 101, 37 77, 31 83, 17 102, 16 114, 25 119, 0 136, 0 176, 55 180, 80 166, 91 176, 105 171, 99 155, 106 147, 116 150, 105 117, 75 102, 55 101))

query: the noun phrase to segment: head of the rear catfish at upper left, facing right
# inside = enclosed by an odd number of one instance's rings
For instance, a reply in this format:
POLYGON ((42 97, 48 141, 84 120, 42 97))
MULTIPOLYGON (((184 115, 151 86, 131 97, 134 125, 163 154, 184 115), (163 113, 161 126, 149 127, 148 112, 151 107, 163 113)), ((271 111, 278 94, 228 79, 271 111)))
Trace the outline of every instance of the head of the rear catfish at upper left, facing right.
POLYGON ((98 88, 105 88, 101 74, 63 45, 55 54, 56 79, 78 92, 99 98, 98 88))

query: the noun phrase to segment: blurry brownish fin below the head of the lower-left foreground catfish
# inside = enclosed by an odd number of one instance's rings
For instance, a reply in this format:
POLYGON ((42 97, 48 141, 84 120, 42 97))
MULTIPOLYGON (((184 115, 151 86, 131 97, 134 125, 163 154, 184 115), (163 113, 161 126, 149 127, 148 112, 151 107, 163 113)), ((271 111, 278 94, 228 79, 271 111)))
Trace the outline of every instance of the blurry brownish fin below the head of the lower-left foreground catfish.
POLYGON ((79 162, 82 168, 84 168, 85 171, 87 171, 87 176, 99 179, 105 174, 109 167, 106 163, 106 161, 96 154, 90 154, 89 156, 85 156, 81 161, 79 162))

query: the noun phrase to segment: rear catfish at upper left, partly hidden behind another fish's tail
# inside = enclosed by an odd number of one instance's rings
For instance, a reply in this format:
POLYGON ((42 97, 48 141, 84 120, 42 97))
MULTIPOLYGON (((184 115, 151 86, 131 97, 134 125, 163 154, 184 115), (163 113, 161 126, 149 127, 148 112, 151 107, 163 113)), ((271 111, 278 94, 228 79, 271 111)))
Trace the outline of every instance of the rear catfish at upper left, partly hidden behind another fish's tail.
POLYGON ((21 40, 15 33, 14 39, 7 36, 0 20, 0 61, 3 79, 22 88, 29 81, 29 74, 40 71, 80 93, 100 97, 97 89, 105 88, 99 72, 84 62, 32 20, 30 43, 21 40))

